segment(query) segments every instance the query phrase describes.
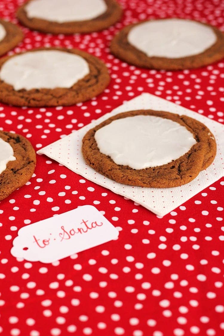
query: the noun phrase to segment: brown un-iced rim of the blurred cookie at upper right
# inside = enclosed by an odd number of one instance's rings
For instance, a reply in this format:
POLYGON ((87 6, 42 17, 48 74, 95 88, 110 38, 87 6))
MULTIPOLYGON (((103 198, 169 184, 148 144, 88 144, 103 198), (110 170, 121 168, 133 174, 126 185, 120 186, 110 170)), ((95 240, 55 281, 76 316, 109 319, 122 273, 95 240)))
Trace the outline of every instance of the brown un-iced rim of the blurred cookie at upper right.
POLYGON ((217 37, 216 42, 204 52, 180 58, 149 57, 128 42, 128 33, 143 22, 123 28, 111 41, 110 51, 129 64, 148 69, 184 70, 205 67, 224 57, 224 34, 216 27, 204 23, 201 24, 210 27, 217 37))

